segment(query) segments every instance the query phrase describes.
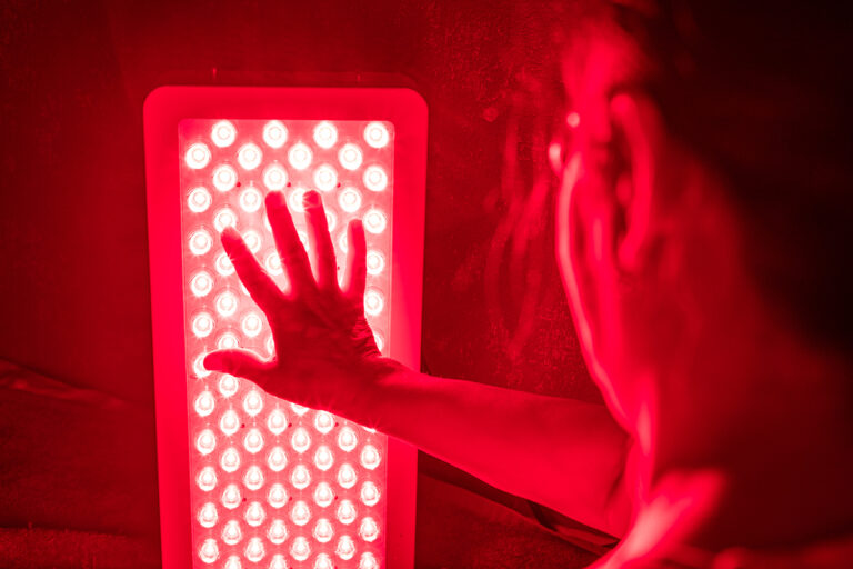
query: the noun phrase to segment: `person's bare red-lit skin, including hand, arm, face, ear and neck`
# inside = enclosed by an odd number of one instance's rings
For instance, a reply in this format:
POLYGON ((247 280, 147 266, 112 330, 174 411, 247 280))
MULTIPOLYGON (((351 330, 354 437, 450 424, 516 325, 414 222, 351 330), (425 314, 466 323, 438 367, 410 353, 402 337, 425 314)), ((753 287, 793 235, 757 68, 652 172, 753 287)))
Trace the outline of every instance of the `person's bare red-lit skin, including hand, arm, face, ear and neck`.
POLYGON ((283 196, 267 198, 288 291, 235 232, 223 233, 277 355, 218 351, 205 367, 375 427, 623 537, 601 567, 708 566, 717 552, 741 559, 736 547, 849 535, 849 362, 766 303, 744 260, 747 220, 727 202, 723 177, 668 133, 640 88, 649 67, 630 39, 594 31, 565 63, 580 120, 559 164, 555 244, 606 407, 382 358, 363 316, 361 224, 349 227, 339 287, 315 192, 305 198, 311 259, 283 196))

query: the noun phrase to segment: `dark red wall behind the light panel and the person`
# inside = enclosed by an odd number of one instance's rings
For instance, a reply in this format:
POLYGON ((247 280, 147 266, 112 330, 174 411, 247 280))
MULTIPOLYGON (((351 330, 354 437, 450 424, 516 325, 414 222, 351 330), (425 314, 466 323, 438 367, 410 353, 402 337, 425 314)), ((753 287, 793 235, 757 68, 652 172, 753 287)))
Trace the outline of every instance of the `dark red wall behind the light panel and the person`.
POLYGON ((144 97, 394 73, 430 108, 424 368, 596 399, 550 257, 518 357, 485 300, 510 102, 555 57, 551 21, 506 0, 1 1, 0 358, 141 403, 153 440, 144 97))

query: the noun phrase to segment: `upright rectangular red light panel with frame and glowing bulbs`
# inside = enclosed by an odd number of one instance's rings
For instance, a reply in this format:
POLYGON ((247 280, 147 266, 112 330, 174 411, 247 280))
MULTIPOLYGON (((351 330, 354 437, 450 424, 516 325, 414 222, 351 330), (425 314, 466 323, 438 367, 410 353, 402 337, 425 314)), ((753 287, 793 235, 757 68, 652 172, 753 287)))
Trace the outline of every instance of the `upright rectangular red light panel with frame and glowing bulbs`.
MULTIPOLYGON (((273 340, 219 234, 234 227, 280 287, 263 197, 327 209, 368 243, 364 312, 385 356, 417 367, 425 106, 405 89, 160 88, 145 101, 163 566, 411 567, 414 450, 325 410, 209 372, 218 348, 273 340)), ((308 247, 308 240, 304 239, 308 247)))

